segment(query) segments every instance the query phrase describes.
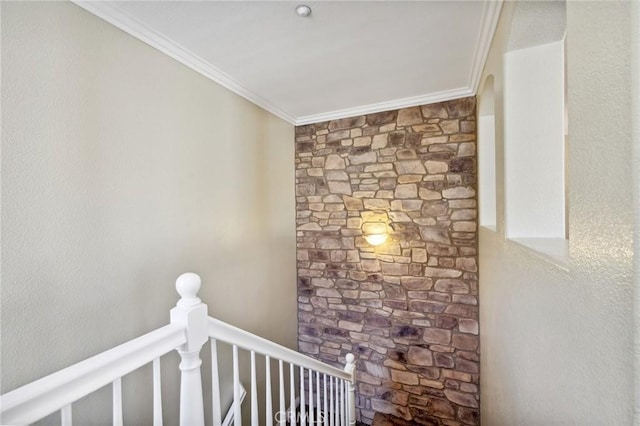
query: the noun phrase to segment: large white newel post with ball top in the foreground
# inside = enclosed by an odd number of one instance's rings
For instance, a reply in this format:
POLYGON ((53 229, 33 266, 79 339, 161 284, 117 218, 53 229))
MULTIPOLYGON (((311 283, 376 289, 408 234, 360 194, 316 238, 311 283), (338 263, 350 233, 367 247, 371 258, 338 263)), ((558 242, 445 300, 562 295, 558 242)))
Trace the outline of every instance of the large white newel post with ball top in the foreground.
POLYGON ((207 342, 207 305, 198 297, 200 277, 192 272, 182 274, 176 280, 176 290, 181 296, 171 309, 171 323, 185 327, 187 343, 177 347, 180 354, 180 425, 204 426, 202 400, 202 376, 200 374, 200 349, 207 342))

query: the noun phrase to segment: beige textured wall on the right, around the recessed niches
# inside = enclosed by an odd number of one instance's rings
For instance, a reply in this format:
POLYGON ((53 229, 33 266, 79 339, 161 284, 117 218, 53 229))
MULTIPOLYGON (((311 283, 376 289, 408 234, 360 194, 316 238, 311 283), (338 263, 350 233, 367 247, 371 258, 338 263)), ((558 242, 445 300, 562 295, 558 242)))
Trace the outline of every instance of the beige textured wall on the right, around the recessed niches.
POLYGON ((483 424, 632 422, 629 8, 567 3, 564 265, 504 239, 502 55, 514 4, 503 8, 482 80, 495 78, 498 164, 498 232, 480 230, 483 424))

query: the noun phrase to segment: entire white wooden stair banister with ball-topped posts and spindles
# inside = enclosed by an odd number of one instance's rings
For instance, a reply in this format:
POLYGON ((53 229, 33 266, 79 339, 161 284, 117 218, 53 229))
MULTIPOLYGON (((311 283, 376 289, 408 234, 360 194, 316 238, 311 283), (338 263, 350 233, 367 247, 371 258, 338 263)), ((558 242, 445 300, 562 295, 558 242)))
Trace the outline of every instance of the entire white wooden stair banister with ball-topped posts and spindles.
POLYGON ((180 425, 204 426, 204 402, 200 351, 211 341, 213 425, 221 426, 220 374, 216 342, 233 347, 234 425, 242 425, 244 389, 239 381, 239 351, 251 355, 251 425, 296 422, 302 425, 353 425, 355 416, 355 362, 345 357, 344 370, 302 355, 277 343, 233 327, 207 313, 198 298, 200 277, 181 275, 176 289, 181 296, 171 310, 171 322, 155 331, 116 346, 85 361, 0 396, 0 424, 34 423, 60 411, 61 424, 73 424, 73 403, 108 384, 113 392, 113 425, 126 424, 122 411, 122 380, 126 374, 153 364, 153 424, 162 426, 160 358, 177 350, 180 354, 180 425), (256 356, 265 358, 265 413, 258 413, 256 356), (278 411, 273 413, 271 362, 278 361, 278 411), (285 368, 288 365, 288 368, 285 368), (285 372, 289 372, 287 409, 285 372), (298 376, 296 377, 296 372, 298 376), (296 391, 298 394, 296 395, 296 391), (299 410, 296 405, 299 404, 299 410), (264 419, 264 421, 261 421, 264 419))

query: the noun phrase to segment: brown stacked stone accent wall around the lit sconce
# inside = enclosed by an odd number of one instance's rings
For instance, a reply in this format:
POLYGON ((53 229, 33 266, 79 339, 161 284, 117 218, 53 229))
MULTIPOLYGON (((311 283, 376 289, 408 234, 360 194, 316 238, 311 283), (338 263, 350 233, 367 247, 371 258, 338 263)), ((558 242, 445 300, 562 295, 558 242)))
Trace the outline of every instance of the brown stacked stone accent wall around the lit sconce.
POLYGON ((364 423, 479 424, 475 141, 473 97, 296 128, 299 349, 364 423))

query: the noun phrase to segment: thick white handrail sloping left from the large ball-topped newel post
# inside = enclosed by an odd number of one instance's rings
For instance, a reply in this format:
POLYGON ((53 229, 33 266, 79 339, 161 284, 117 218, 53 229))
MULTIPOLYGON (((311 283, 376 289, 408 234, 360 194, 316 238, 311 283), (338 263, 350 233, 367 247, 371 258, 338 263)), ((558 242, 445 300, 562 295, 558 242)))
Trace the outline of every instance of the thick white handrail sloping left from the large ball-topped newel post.
POLYGON ((1 424, 30 424, 186 343, 169 324, 0 396, 1 424))

